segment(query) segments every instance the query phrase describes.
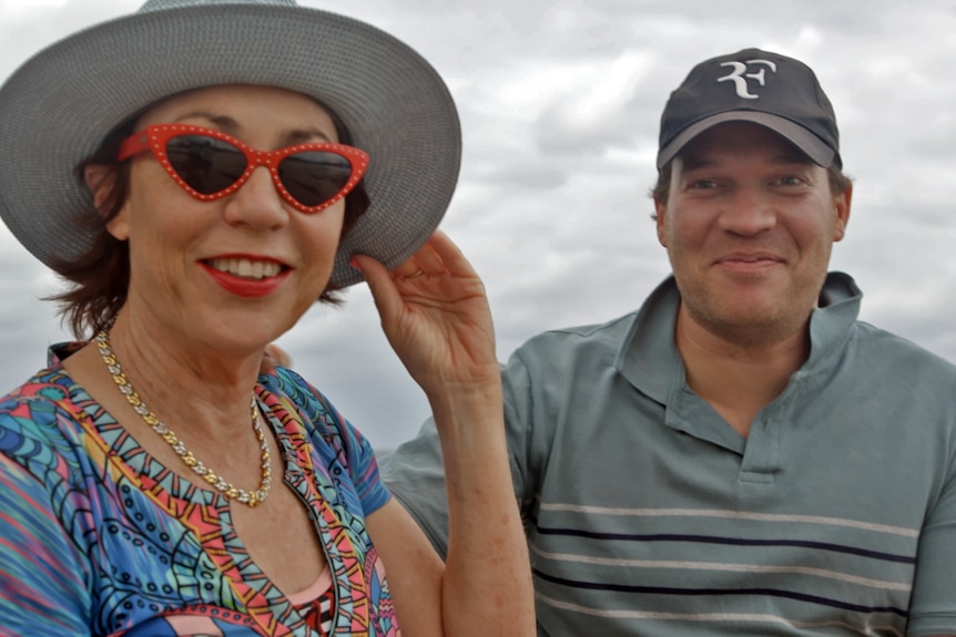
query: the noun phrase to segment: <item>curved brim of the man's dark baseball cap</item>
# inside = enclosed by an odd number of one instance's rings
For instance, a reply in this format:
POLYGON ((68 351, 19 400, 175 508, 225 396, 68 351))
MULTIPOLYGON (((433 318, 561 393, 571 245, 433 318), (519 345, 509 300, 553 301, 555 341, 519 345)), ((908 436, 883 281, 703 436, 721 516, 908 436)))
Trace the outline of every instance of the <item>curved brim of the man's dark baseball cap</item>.
POLYGON ((698 135, 725 122, 753 122, 765 126, 800 148, 813 163, 824 168, 828 168, 836 158, 836 153, 823 140, 790 120, 759 111, 726 111, 704 117, 681 131, 658 153, 658 169, 668 165, 698 135))

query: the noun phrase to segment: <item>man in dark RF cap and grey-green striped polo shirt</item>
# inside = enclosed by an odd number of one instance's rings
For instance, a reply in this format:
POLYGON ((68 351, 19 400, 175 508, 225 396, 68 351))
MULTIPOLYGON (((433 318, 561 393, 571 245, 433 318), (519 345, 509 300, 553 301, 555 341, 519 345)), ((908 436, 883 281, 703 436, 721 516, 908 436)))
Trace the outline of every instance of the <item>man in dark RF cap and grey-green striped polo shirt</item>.
MULTIPOLYGON (((816 76, 699 64, 658 168, 673 277, 502 370, 539 634, 956 635, 956 368, 826 271, 852 185, 816 76)), ((434 425, 385 465, 444 549, 434 425)))

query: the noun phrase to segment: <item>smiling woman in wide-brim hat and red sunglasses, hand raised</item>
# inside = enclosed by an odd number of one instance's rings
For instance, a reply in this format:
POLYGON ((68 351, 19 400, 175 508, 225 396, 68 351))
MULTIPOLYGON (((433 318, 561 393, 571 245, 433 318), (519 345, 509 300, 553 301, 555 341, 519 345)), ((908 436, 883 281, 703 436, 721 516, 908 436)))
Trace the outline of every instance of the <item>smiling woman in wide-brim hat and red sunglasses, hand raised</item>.
POLYGON ((0 635, 533 631, 487 302, 429 238, 459 136, 424 60, 292 0, 150 0, 21 66, 0 122, 0 214, 88 341, 0 400, 0 635), (327 400, 258 373, 363 275, 441 428, 446 564, 327 400))

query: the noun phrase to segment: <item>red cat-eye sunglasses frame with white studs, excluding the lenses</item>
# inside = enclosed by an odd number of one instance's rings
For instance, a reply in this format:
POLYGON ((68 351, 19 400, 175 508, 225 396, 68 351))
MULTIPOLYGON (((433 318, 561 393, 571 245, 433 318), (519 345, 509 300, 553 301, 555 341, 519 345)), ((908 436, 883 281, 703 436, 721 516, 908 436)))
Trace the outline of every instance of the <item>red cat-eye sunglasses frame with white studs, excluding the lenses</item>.
POLYGON ((133 133, 132 135, 123 140, 123 143, 120 145, 120 152, 116 154, 116 160, 122 162, 141 153, 145 153, 146 151, 151 151, 153 153, 153 155, 160 162, 160 165, 163 166, 166 173, 169 173, 169 175, 176 184, 180 185, 181 188, 183 188, 190 195, 202 202, 213 202, 215 199, 221 199, 235 193, 243 186, 243 184, 248 181, 253 172, 258 166, 265 166, 266 168, 268 168, 268 174, 272 177, 272 182, 273 184, 275 184, 275 188, 278 192, 279 196, 289 205, 292 205, 292 207, 305 214, 317 213, 324 208, 327 208, 328 206, 334 205, 336 202, 345 197, 345 195, 347 195, 349 192, 353 191, 353 188, 355 188, 355 186, 358 185, 358 183, 362 181, 363 175, 365 174, 365 171, 368 168, 368 154, 353 146, 346 146, 345 144, 308 143, 295 144, 293 146, 286 146, 284 148, 278 148, 275 151, 260 151, 257 148, 253 148, 247 144, 244 144, 232 135, 226 135, 225 133, 216 131, 215 129, 207 129, 205 126, 192 126, 189 124, 155 124, 152 126, 146 126, 142 131, 138 131, 136 133, 133 133), (183 181, 183 178, 172 166, 169 157, 166 156, 166 144, 170 142, 170 140, 183 135, 203 135, 212 137, 214 140, 220 140, 235 146, 238 151, 242 152, 243 155, 245 155, 245 172, 240 178, 237 178, 230 186, 223 188, 222 191, 207 195, 200 193, 183 181), (326 199, 325 202, 322 202, 321 204, 315 206, 306 206, 305 204, 293 197, 285 188, 285 185, 282 183, 282 179, 278 175, 278 165, 283 160, 291 155, 313 151, 333 153, 340 157, 344 157, 345 161, 348 162, 348 165, 352 166, 352 174, 349 174, 348 181, 345 183, 345 185, 329 199, 326 199))

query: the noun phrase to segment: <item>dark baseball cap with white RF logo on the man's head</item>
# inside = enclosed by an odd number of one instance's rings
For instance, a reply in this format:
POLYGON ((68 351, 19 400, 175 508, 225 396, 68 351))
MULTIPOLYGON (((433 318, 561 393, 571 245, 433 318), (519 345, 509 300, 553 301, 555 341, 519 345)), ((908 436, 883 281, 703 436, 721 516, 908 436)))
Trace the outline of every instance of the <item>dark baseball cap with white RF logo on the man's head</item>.
POLYGON ((813 70, 793 58, 744 49, 694 66, 664 106, 658 168, 723 122, 761 124, 815 164, 843 165, 833 105, 813 70))

